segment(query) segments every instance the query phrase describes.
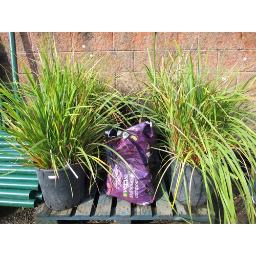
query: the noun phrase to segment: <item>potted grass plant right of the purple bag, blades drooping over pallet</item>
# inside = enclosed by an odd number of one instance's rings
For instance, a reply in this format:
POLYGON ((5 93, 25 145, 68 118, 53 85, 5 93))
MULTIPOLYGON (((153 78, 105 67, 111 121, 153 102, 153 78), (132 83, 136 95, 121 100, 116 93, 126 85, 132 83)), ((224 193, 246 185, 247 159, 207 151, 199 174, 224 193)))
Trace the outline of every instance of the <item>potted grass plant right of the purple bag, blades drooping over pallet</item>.
MULTIPOLYGON (((167 51, 160 57, 154 50, 149 65, 143 64, 147 89, 148 118, 154 122, 158 150, 164 153, 161 179, 170 177, 169 194, 175 201, 192 206, 208 204, 222 223, 237 223, 233 189, 240 191, 248 222, 254 223, 255 175, 255 76, 237 83, 240 70, 224 72, 202 66, 200 48, 167 51), (159 56, 159 57, 158 57, 159 56), (215 72, 214 72, 215 71, 215 72), (223 209, 223 214, 220 214, 223 209)), ((154 47, 155 49, 155 47, 154 47)))

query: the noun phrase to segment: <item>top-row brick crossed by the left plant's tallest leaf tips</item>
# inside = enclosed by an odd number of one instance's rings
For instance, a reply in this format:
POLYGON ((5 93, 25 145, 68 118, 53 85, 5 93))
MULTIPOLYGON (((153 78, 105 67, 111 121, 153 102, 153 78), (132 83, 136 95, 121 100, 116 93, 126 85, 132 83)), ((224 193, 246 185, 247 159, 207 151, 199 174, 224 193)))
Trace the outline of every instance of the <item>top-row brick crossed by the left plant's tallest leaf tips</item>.
MULTIPOLYGON (((59 52, 70 52, 72 50, 71 32, 50 32, 55 41, 55 46, 59 52)), ((44 41, 45 32, 30 32, 33 52, 40 51, 40 44, 44 41)), ((49 41, 49 34, 47 34, 49 41)))

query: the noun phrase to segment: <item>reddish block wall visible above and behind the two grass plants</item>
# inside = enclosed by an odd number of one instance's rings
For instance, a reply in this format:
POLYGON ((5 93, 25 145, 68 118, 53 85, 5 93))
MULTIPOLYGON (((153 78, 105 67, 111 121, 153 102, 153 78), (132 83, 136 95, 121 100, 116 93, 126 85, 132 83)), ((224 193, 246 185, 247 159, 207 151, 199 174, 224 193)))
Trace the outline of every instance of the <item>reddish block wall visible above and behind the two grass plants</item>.
MULTIPOLYGON (((153 51, 154 32, 53 32, 57 50, 63 53, 72 49, 79 54, 106 53, 119 63, 112 70, 113 74, 126 73, 127 70, 140 72, 139 58, 147 59, 147 48, 153 51)), ((15 32, 16 51, 18 58, 26 61, 31 68, 37 58, 38 40, 40 32, 15 32)), ((174 40, 180 47, 202 52, 209 49, 209 60, 213 68, 218 68, 224 52, 222 66, 236 67, 248 66, 240 72, 239 79, 244 79, 256 72, 256 32, 157 32, 156 48, 164 51, 166 42, 169 50, 175 50, 174 40), (243 78, 242 78, 243 77, 243 78)), ((0 41, 9 46, 8 32, 0 32, 0 41)), ((6 68, 11 67, 8 51, 0 45, 0 64, 6 68)), ((19 72, 22 72, 18 65, 19 72)), ((0 68, 0 76, 4 77, 4 71, 0 68)), ((126 80, 129 75, 116 81, 119 88, 137 86, 135 79, 126 80)), ((127 89, 126 89, 127 90, 127 89)))

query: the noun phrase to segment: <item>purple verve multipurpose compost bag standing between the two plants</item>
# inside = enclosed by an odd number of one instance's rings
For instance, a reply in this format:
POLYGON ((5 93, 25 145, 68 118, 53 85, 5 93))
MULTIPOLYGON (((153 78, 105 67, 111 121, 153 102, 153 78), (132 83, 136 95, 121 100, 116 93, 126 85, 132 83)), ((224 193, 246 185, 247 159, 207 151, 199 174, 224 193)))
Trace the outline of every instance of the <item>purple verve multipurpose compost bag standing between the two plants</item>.
POLYGON ((155 144, 152 122, 141 122, 114 133, 105 132, 106 144, 121 157, 106 148, 110 173, 101 189, 109 196, 131 203, 149 205, 155 188, 151 175, 151 155, 155 144), (123 159, 121 159, 123 158, 123 159), (123 161, 125 160, 125 161, 123 161))

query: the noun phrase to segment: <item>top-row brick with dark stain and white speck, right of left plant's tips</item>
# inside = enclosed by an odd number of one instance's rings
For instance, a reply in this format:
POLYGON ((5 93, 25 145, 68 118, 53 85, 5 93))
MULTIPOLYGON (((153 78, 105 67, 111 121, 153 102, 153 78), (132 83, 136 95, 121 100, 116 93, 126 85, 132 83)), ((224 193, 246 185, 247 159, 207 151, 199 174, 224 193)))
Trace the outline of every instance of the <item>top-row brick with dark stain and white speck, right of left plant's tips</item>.
POLYGON ((113 32, 71 32, 75 51, 112 51, 113 32))

